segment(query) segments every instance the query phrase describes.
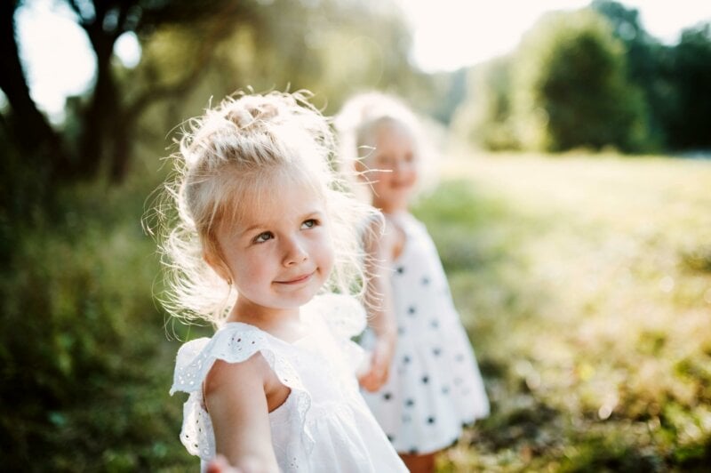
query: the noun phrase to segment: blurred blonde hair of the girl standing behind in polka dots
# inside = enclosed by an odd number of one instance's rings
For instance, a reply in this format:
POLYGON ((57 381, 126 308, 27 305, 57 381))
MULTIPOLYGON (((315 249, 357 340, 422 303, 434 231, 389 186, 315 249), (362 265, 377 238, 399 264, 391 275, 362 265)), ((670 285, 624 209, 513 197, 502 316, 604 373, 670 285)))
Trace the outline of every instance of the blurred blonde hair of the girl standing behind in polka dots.
POLYGON ((425 139, 427 132, 421 120, 403 100, 384 92, 356 94, 343 105, 336 117, 342 172, 349 176, 358 175, 356 163, 362 163, 375 151, 373 134, 380 126, 387 124, 402 125, 411 137, 420 171, 416 190, 419 192, 434 187, 435 172, 432 162, 435 149, 431 142, 425 139))

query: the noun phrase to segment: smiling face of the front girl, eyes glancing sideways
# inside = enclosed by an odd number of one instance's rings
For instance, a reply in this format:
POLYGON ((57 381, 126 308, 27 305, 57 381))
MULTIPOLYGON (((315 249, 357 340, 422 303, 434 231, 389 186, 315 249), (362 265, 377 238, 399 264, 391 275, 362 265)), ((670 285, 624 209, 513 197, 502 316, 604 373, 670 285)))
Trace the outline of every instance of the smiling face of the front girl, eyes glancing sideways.
POLYGON ((316 295, 333 267, 332 240, 324 196, 314 188, 277 177, 253 192, 258 198, 242 202, 255 204, 221 224, 217 240, 239 294, 236 314, 269 317, 316 295))

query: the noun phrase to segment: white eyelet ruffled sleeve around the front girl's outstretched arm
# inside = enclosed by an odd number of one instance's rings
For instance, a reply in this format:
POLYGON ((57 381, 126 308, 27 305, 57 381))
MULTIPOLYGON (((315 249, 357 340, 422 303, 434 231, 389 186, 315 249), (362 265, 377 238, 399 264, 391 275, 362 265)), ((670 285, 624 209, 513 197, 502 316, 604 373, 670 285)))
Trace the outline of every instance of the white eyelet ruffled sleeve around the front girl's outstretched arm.
POLYGON ((215 454, 215 440, 210 415, 205 411, 203 381, 215 360, 241 363, 257 352, 267 360, 279 381, 292 390, 300 418, 303 443, 306 452, 313 448, 314 440, 306 426, 306 413, 311 405, 311 397, 304 388, 300 376, 291 362, 284 357, 279 343, 268 333, 252 325, 232 323, 222 327, 212 339, 188 341, 179 350, 171 395, 177 391, 187 392, 188 400, 183 405, 183 425, 180 441, 188 453, 210 460, 215 454))

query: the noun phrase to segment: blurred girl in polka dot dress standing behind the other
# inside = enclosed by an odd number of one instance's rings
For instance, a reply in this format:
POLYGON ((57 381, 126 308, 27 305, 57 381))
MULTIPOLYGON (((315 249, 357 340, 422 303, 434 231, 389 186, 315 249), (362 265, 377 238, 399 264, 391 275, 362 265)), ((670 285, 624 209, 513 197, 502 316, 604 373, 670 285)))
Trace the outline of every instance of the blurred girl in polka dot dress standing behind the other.
MULTIPOLYGON (((379 251, 397 318, 389 378, 363 396, 411 472, 433 471, 435 453, 458 439, 462 424, 488 415, 489 402, 435 245, 408 212, 422 133, 408 108, 377 92, 349 100, 337 124, 351 172, 386 216, 379 251)), ((366 333, 363 346, 372 340, 366 333)))

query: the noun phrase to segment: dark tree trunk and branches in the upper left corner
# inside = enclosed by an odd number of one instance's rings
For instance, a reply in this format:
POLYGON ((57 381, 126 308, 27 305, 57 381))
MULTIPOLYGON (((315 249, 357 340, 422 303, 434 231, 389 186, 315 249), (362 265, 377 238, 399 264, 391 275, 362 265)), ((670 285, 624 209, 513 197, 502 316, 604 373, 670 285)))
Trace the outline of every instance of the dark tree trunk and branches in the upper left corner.
POLYGON ((0 61, 5 71, 0 87, 12 108, 7 126, 17 137, 20 153, 32 156, 33 164, 46 167, 52 177, 63 179, 93 177, 102 165, 108 168, 112 180, 123 179, 130 156, 127 143, 132 136, 131 124, 140 111, 152 100, 185 91, 194 84, 216 42, 236 25, 256 16, 256 6, 252 2, 228 0, 200 3, 190 0, 64 2, 76 14, 77 24, 86 32, 96 57, 93 89, 87 93, 84 107, 77 110, 78 142, 71 143, 52 129, 29 97, 13 20, 14 12, 21 4, 17 0, 3 3, 0 20, 0 35, 4 38, 0 61), (200 30, 203 51, 178 80, 171 84, 148 84, 146 90, 133 100, 122 100, 116 65, 112 63, 116 40, 126 32, 149 36, 156 28, 167 24, 190 25, 200 30))

